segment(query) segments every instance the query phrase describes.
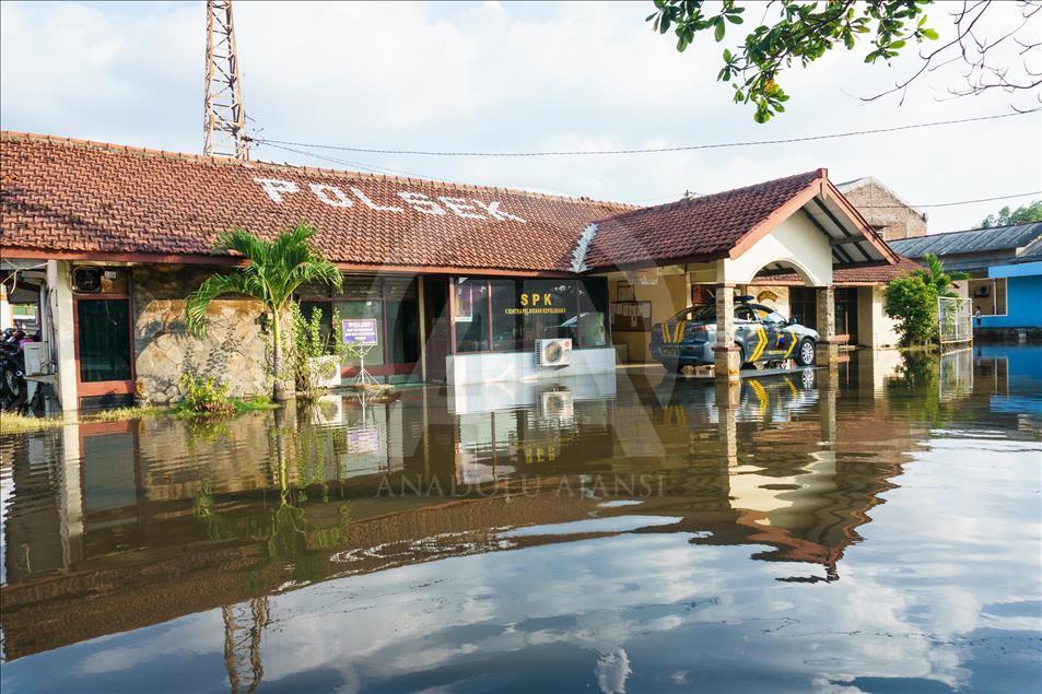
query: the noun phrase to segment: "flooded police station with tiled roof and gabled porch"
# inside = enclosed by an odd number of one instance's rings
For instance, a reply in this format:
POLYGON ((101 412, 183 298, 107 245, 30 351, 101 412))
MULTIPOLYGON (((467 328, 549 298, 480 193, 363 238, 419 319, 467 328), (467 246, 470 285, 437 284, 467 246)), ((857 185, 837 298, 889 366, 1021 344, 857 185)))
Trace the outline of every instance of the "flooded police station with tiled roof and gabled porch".
MULTIPOLYGON (((646 361, 651 325, 692 302, 716 302, 730 336, 736 292, 817 328, 820 358, 885 346, 878 287, 906 270, 824 169, 637 209, 21 133, 2 153, 2 271, 36 297, 65 410, 169 402, 186 372, 267 390, 257 303, 215 302, 203 339, 182 318, 189 292, 238 262, 211 252, 234 226, 313 224, 344 282, 305 287, 302 308, 330 331, 333 316, 375 321, 365 368, 379 379, 454 387, 646 361)), ((729 338, 716 345, 719 377, 739 360, 729 338)))

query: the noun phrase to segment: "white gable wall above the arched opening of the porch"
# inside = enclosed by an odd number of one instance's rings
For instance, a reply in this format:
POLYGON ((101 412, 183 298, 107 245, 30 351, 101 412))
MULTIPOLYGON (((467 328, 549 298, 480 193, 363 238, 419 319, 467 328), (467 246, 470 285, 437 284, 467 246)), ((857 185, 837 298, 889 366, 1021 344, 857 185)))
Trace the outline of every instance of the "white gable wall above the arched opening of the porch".
POLYGON ((738 258, 721 263, 718 282, 748 284, 772 262, 795 268, 813 286, 832 284, 832 247, 829 239, 803 212, 796 212, 771 230, 738 258))

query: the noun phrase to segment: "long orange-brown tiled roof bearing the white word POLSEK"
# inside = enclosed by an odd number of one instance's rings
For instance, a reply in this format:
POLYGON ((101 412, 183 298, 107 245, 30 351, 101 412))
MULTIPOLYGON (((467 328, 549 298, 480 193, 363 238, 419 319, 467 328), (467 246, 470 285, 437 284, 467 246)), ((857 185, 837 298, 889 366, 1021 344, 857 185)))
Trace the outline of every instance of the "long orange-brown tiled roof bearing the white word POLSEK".
POLYGON ((564 271, 590 222, 633 209, 10 132, 0 163, 5 250, 208 254, 234 225, 273 235, 307 221, 344 264, 564 271))

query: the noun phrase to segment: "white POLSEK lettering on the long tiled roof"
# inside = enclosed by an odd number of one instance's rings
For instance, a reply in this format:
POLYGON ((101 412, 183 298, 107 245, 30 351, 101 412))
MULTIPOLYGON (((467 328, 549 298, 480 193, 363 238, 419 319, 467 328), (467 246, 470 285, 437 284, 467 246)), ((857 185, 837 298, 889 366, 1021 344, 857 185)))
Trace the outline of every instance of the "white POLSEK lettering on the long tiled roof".
MULTIPOLYGON (((282 178, 254 178, 254 180, 260 184, 265 193, 276 204, 282 204, 285 201, 286 196, 301 192, 301 187, 292 180, 284 180, 282 178)), ((355 188, 354 186, 348 188, 348 190, 351 192, 350 196, 344 192, 343 189, 330 184, 307 184, 307 187, 311 189, 312 195, 314 195, 319 202, 331 208, 354 207, 354 201, 351 200, 351 196, 354 196, 362 204, 367 207, 370 210, 375 210, 376 212, 405 212, 403 208, 380 204, 374 201, 372 198, 365 195, 364 191, 355 188)), ((496 222, 517 222, 519 224, 528 223, 516 214, 511 214, 506 210, 503 210, 500 207, 502 203, 499 200, 482 202, 481 200, 477 199, 465 200, 464 198, 441 196, 437 198, 437 201, 435 201, 422 192, 412 192, 409 190, 402 190, 396 195, 407 202, 410 208, 423 214, 447 214, 445 210, 448 209, 449 212, 465 220, 492 219, 496 222), (438 204, 438 202, 441 202, 441 204, 438 204), (485 216, 485 214, 481 214, 481 212, 484 212, 488 216, 485 216)))

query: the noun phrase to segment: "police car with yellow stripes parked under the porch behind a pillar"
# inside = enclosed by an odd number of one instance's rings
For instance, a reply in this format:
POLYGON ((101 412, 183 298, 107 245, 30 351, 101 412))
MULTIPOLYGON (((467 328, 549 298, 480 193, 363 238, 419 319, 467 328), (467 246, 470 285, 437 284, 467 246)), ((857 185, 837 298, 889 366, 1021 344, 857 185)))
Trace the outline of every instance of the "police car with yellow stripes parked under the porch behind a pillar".
MULTIPOLYGON (((796 360, 800 366, 815 361, 818 333, 785 319, 773 308, 750 304, 751 296, 738 297, 735 306, 734 342, 741 350, 742 364, 796 360)), ((713 363, 716 345, 716 306, 689 306, 652 327, 652 356, 669 370, 713 363)))

